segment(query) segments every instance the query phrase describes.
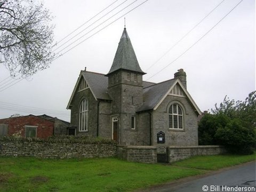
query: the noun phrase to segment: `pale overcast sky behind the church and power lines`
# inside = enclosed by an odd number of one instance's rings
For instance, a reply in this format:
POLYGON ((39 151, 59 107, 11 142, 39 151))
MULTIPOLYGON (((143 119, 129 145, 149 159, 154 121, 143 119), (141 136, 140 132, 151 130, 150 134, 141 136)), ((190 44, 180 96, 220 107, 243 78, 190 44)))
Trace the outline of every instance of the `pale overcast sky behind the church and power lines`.
MULTIPOLYGON (((126 1, 118 9, 86 29, 82 35, 133 1, 126 1)), ((77 43, 144 1, 138 0, 92 30, 77 43)), ((147 73, 143 76, 143 80, 156 83, 166 81, 173 78, 173 74, 178 69, 183 68, 187 73, 187 89, 201 111, 213 108, 215 103, 223 101, 225 95, 230 99, 244 100, 255 90, 255 0, 242 1, 234 11, 207 33, 241 0, 223 1, 165 57, 156 61, 221 1, 149 0, 125 16, 126 29, 140 67, 147 73), (202 36, 204 37, 201 39, 202 36), (195 42, 197 43, 191 47, 195 42), (151 65, 153 66, 148 69, 151 65), (167 65, 169 66, 166 67, 167 65), (166 67, 164 70, 157 73, 164 67, 166 67), (155 76, 151 77, 153 75, 155 76)), ((53 20, 55 42, 58 42, 115 0, 45 0, 44 2, 55 17, 53 20)), ((115 2, 81 29, 122 2, 124 0, 115 2)), ((108 73, 123 28, 122 17, 63 54, 53 61, 48 69, 39 71, 31 77, 30 81, 22 80, 4 91, 1 91, 4 89, 3 85, 0 85, 0 118, 7 118, 13 114, 47 114, 70 121, 70 110, 66 107, 80 71, 86 67, 88 71, 108 73), (25 108, 25 106, 33 108, 25 108)), ((76 43, 72 46, 74 45, 76 43)), ((9 71, 1 65, 0 82, 9 75, 9 71)))

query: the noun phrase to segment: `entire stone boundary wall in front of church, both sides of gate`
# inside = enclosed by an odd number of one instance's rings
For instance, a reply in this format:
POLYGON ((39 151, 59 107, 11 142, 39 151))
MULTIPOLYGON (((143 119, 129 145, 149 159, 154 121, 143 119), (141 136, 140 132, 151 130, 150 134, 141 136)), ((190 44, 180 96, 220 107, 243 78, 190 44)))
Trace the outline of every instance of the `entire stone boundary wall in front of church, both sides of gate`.
MULTIPOLYGON (((168 147, 169 163, 196 155, 226 153, 220 146, 168 147)), ((116 146, 114 143, 85 144, 42 141, 0 140, 0 156, 33 156, 39 158, 114 157, 130 162, 157 163, 156 146, 116 146)))

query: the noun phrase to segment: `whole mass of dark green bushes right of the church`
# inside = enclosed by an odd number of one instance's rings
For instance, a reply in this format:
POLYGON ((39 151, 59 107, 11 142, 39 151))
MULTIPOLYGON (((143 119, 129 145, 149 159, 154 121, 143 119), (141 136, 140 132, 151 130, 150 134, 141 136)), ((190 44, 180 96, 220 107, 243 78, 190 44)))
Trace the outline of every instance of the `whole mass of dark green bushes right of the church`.
POLYGON ((245 101, 227 96, 212 114, 205 114, 198 124, 199 145, 223 145, 232 153, 252 154, 256 148, 256 91, 245 101))

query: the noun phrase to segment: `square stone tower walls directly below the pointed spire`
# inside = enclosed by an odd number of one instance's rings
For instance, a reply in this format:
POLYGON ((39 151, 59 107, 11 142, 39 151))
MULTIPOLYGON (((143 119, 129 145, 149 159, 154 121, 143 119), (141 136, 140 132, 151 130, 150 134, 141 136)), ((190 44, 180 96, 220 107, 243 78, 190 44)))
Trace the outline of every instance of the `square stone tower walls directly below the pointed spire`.
POLYGON ((126 70, 110 74, 108 93, 113 100, 111 115, 119 117, 118 143, 139 145, 138 130, 132 130, 131 125, 132 117, 138 122, 136 111, 142 105, 142 75, 126 70), (130 78, 127 78, 127 74, 130 78))

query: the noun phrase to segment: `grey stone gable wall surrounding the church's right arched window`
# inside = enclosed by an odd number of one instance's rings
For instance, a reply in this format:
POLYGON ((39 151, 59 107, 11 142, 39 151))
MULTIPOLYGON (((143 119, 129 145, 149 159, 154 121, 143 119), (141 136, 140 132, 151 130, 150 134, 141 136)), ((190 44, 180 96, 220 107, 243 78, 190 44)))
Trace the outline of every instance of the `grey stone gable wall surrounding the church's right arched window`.
POLYGON ((187 98, 167 95, 153 112, 153 145, 157 146, 197 146, 197 115, 187 98), (183 110, 183 130, 169 129, 169 107, 177 102, 183 110), (165 143, 157 143, 157 133, 165 133, 165 143))

